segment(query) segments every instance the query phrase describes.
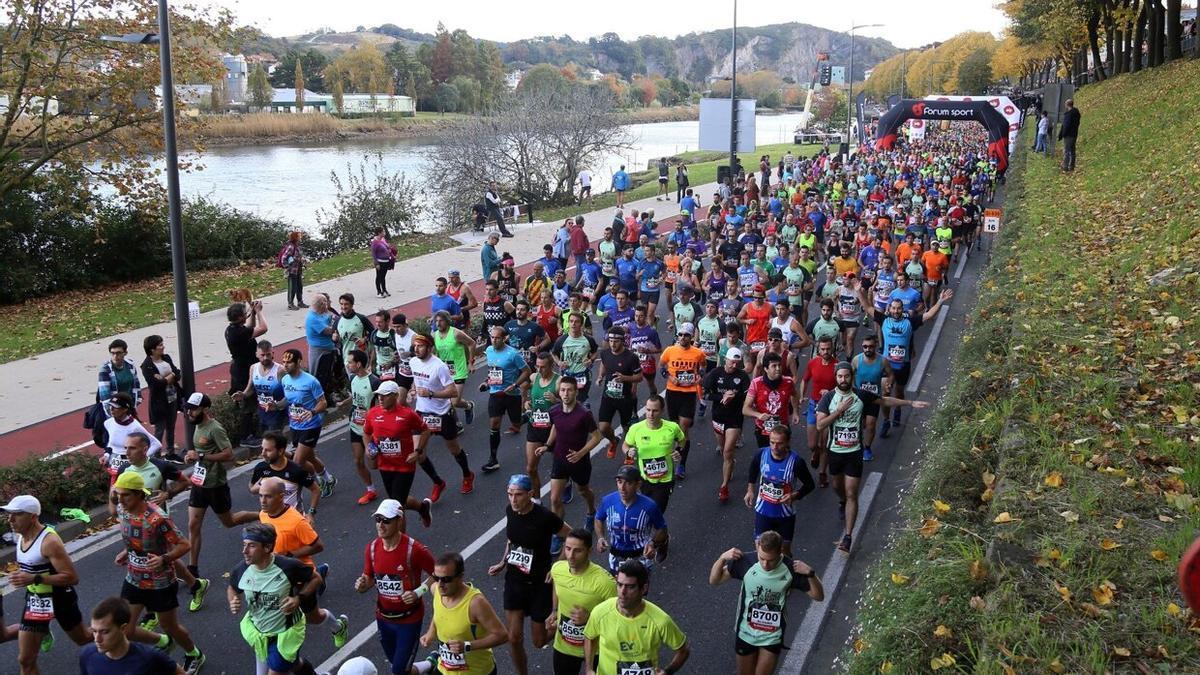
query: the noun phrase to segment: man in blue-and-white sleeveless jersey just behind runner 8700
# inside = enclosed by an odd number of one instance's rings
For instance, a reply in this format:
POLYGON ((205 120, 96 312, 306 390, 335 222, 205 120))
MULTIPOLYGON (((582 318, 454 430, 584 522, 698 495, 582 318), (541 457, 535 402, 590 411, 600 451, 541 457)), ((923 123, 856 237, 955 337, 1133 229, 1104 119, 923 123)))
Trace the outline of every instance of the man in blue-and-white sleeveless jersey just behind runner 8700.
POLYGON ((776 426, 770 431, 769 443, 758 450, 750 462, 746 482, 745 504, 754 509, 755 539, 768 530, 784 538, 784 555, 792 555, 792 537, 796 534, 797 501, 816 489, 812 474, 800 455, 788 448, 792 431, 776 426), (757 497, 755 496, 757 490, 757 497))

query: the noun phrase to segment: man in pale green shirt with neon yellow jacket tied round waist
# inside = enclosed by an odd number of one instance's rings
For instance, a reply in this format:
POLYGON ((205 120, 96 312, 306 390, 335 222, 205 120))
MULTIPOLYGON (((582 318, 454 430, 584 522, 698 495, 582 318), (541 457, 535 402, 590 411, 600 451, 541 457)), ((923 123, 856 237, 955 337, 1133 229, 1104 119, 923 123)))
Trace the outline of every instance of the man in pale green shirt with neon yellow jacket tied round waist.
POLYGON ((229 574, 229 611, 240 614, 241 637, 254 650, 259 671, 312 673, 300 657, 305 619, 300 597, 311 598, 320 587, 320 577, 310 565, 275 555, 275 527, 256 522, 241 534, 242 562, 229 574))

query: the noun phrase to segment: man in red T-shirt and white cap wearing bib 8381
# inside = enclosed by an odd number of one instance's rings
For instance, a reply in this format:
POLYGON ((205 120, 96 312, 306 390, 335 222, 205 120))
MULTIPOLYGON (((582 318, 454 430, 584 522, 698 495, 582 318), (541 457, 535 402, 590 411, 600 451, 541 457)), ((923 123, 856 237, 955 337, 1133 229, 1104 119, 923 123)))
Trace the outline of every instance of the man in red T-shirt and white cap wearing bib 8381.
POLYGON ((383 381, 376 394, 379 404, 368 410, 362 420, 362 440, 367 443, 371 468, 379 470, 388 497, 420 513, 421 525, 428 527, 433 521, 433 502, 427 498, 418 501, 408 492, 413 489, 416 465, 425 459, 430 428, 416 411, 400 404, 400 384, 395 380, 383 381), (416 448, 413 448, 414 434, 420 434, 416 448))

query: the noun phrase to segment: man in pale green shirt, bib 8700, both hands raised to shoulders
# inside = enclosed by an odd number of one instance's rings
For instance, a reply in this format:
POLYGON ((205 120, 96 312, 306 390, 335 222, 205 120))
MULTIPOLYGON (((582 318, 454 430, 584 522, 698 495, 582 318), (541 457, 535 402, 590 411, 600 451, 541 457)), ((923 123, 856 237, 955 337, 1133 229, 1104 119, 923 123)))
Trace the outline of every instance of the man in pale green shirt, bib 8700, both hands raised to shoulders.
POLYGON ((742 581, 734 620, 738 673, 774 673, 784 646, 787 596, 803 591, 816 602, 824 599, 824 587, 816 571, 803 561, 784 557, 784 539, 774 531, 763 532, 755 544, 756 557, 730 549, 708 573, 718 586, 730 579, 742 581))

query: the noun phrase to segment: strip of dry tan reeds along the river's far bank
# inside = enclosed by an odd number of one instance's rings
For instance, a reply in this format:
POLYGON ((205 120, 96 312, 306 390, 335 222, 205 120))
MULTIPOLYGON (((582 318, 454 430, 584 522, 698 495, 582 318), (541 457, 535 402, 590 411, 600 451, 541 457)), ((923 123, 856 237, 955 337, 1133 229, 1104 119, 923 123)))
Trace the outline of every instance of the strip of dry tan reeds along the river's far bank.
MULTIPOLYGON (((204 115, 191 132, 184 132, 188 148, 325 143, 355 139, 425 138, 454 126, 468 115, 460 113, 418 113, 412 118, 356 118, 334 115, 251 113, 246 115, 204 115)), ((654 124, 700 119, 697 106, 643 108, 620 113, 624 124, 654 124)))

